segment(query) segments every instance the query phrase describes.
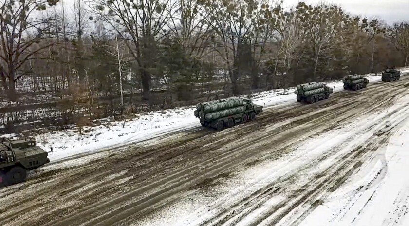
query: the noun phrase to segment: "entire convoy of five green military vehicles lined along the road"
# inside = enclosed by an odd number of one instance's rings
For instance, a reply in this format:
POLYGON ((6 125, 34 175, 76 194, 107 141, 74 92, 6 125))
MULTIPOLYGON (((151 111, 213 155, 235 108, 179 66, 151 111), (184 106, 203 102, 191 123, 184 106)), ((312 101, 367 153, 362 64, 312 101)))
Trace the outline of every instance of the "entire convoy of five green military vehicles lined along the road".
MULTIPOLYGON (((401 72, 396 69, 385 69, 382 81, 399 80, 401 72)), ((368 79, 363 75, 348 75, 343 79, 344 89, 359 90, 365 88, 368 79)), ((327 99, 333 89, 322 82, 309 82, 297 85, 294 92, 297 102, 308 104, 327 99)), ((202 126, 222 130, 238 123, 252 121, 263 112, 263 106, 249 99, 230 97, 199 103, 194 111, 202 126)), ((47 151, 36 146, 33 139, 13 140, 1 139, 0 143, 0 185, 12 185, 25 181, 27 171, 37 169, 47 163, 47 151)))

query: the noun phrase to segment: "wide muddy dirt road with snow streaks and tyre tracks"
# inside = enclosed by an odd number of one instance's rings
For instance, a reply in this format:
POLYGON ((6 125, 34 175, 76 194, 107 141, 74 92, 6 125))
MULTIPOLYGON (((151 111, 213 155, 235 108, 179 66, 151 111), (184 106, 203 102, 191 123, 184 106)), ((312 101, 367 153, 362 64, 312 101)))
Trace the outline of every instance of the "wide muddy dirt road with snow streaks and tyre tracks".
POLYGON ((269 108, 221 132, 177 132, 38 169, 26 183, 0 190, 0 225, 168 225, 173 208, 204 196, 176 223, 297 225, 376 156, 409 115, 408 94, 403 76, 311 105, 269 108), (343 129, 350 133, 334 133, 336 143, 323 137, 343 129), (247 178, 236 193, 221 189, 267 163, 273 167, 262 185, 247 178))

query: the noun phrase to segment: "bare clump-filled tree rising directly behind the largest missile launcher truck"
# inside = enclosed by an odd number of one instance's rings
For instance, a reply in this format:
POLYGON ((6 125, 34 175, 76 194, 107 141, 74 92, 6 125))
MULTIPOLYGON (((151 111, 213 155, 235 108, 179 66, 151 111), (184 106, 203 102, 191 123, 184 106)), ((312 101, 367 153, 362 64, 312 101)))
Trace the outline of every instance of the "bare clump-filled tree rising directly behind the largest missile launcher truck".
POLYGON ((251 46, 260 44, 255 37, 259 37, 263 28, 267 30, 265 26, 273 19, 273 12, 277 12, 274 9, 279 5, 269 6, 264 0, 215 0, 207 2, 206 7, 210 12, 206 22, 217 35, 213 39, 214 51, 223 57, 233 94, 239 94, 240 61, 254 62, 254 58, 244 60, 243 57, 254 57, 251 46))

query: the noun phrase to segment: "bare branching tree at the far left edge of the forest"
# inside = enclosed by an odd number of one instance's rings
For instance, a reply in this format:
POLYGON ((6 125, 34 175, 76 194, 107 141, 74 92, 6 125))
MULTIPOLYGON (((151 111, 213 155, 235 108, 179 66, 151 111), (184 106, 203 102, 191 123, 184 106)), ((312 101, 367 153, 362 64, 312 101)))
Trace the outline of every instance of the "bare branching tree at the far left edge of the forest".
POLYGON ((37 10, 55 6, 58 0, 20 0, 0 3, 0 77, 9 97, 15 93, 15 82, 26 75, 24 63, 38 58, 44 49, 56 44, 53 19, 34 16, 37 10), (46 42, 43 40, 47 39, 46 42))

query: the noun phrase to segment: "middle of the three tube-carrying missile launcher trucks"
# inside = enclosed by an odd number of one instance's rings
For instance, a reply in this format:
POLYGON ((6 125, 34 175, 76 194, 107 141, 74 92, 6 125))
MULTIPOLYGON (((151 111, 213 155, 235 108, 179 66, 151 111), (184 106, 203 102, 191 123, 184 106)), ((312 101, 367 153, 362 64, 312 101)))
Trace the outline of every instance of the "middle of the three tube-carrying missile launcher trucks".
POLYGON ((327 99, 333 93, 333 89, 322 82, 309 82, 297 85, 294 91, 297 94, 297 102, 314 102, 327 99))

